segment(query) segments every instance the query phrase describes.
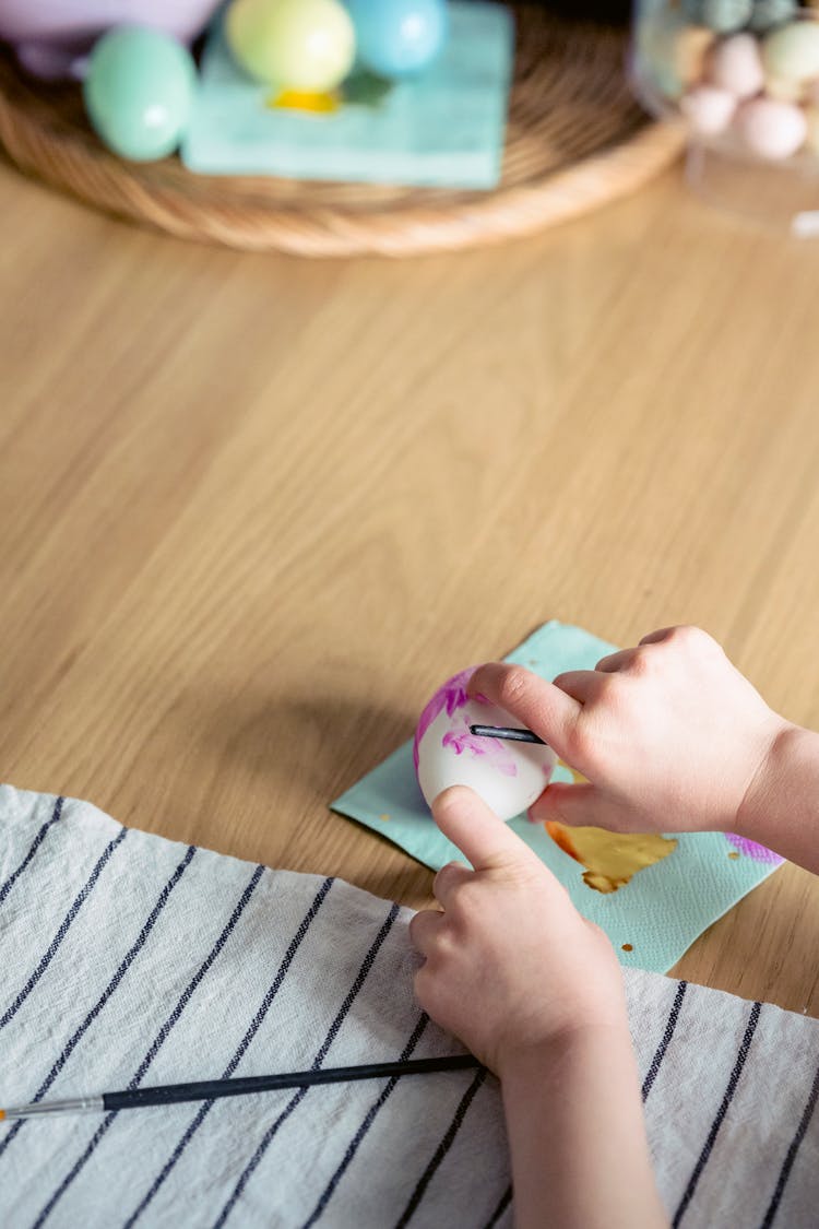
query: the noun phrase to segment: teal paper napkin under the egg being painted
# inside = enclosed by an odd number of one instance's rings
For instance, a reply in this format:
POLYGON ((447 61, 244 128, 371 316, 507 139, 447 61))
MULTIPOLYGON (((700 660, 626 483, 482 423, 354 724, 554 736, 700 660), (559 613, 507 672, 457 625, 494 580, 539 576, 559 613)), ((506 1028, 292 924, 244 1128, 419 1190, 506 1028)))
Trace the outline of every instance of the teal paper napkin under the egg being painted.
MULTIPOLYGON (((544 678, 591 670, 613 645, 582 628, 545 623, 506 658, 544 678)), ((571 780, 564 767, 555 779, 571 780)), ((463 854, 436 828, 415 779, 413 744, 405 742, 333 804, 333 810, 373 828, 413 858, 438 870, 463 854)), ((639 870, 615 892, 583 882, 584 868, 564 853, 541 825, 526 816, 511 826, 569 890, 577 908, 600 925, 624 965, 668 972, 712 922, 780 864, 770 850, 722 832, 675 834, 678 848, 639 870), (624 950, 626 946, 627 950, 624 950)))

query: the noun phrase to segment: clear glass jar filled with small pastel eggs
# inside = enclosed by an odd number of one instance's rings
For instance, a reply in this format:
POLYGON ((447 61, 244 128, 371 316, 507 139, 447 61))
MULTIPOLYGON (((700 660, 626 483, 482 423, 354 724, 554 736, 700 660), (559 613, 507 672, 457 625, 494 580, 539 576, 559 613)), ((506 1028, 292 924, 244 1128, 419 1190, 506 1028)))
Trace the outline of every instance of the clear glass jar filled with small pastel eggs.
POLYGON ((632 79, 718 204, 819 235, 819 4, 637 0, 632 79))

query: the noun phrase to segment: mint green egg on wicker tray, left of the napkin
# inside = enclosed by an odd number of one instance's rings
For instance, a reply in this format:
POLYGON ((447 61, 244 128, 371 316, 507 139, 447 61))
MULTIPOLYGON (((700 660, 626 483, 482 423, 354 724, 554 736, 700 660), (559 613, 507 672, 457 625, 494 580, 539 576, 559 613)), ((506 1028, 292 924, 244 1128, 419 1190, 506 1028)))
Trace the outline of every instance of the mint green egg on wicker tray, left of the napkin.
POLYGON ((85 106, 97 135, 114 154, 151 162, 178 146, 195 85, 187 47, 147 26, 119 26, 95 44, 85 106))

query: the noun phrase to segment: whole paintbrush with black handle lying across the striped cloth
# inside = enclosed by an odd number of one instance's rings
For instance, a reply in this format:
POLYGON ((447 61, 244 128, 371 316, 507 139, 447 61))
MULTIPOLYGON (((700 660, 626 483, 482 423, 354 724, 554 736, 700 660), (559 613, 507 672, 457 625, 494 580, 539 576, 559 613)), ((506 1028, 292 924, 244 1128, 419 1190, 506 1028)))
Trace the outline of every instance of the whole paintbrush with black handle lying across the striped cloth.
POLYGON ((361 1067, 324 1067, 276 1075, 247 1075, 241 1079, 209 1079, 190 1084, 162 1084, 156 1088, 129 1088, 122 1093, 75 1096, 65 1101, 32 1101, 0 1110, 0 1121, 33 1118, 49 1113, 107 1113, 111 1110, 140 1110, 147 1105, 176 1105, 180 1101, 211 1101, 221 1096, 247 1096, 282 1088, 309 1088, 313 1084, 341 1084, 359 1079, 389 1079, 397 1075, 424 1075, 480 1067, 473 1054, 442 1054, 440 1058, 406 1058, 392 1063, 366 1063, 361 1067))

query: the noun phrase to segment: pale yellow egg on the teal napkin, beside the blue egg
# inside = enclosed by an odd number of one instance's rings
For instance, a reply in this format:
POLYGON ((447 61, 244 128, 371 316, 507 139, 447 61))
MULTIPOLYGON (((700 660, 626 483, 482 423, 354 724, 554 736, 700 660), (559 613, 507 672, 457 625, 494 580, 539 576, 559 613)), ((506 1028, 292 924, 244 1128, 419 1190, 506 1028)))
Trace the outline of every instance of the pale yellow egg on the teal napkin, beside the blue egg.
POLYGON ((233 0, 225 32, 250 76, 306 93, 334 90, 355 59, 352 22, 339 0, 233 0))

